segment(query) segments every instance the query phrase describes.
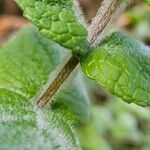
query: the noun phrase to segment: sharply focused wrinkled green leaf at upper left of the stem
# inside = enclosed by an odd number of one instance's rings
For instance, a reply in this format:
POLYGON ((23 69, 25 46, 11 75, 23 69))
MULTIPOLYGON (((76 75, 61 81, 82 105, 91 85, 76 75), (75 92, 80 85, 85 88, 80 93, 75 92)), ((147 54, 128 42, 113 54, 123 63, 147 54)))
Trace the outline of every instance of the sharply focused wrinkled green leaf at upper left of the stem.
POLYGON ((49 39, 71 49, 86 51, 86 29, 73 12, 73 0, 16 0, 28 18, 49 39))

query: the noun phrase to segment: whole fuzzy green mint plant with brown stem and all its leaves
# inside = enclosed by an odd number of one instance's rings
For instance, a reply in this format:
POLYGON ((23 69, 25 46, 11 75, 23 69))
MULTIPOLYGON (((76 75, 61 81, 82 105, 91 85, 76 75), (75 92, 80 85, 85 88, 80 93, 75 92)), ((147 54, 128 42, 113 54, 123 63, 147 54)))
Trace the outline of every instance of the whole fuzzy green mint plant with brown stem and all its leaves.
POLYGON ((111 31, 129 0, 104 0, 89 26, 76 0, 16 2, 34 26, 0 50, 2 149, 80 149, 74 126, 90 116, 82 71, 124 101, 150 106, 149 47, 111 31))

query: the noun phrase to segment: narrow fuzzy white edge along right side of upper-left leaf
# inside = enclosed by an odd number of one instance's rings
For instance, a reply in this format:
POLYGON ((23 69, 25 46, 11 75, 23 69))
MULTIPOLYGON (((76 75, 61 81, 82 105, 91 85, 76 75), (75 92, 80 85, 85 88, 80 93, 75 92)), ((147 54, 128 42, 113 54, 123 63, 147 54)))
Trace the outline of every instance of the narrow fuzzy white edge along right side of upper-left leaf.
POLYGON ((78 19, 78 22, 85 28, 88 28, 87 21, 79 4, 79 0, 73 0, 73 11, 78 19))

